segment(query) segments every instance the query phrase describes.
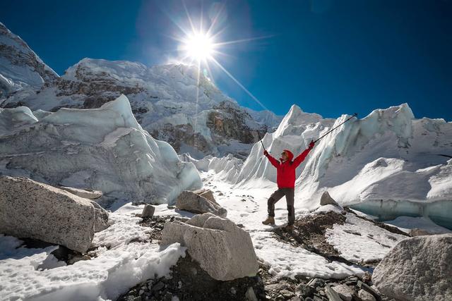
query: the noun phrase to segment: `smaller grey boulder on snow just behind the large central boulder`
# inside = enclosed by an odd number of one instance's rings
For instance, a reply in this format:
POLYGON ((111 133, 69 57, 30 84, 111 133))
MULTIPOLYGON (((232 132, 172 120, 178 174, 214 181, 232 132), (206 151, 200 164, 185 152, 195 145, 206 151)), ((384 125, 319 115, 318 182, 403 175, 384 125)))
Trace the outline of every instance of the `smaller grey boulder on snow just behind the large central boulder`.
POLYGON ((217 202, 212 202, 206 197, 197 195, 195 192, 183 191, 176 199, 176 207, 179 210, 189 211, 195 214, 212 213, 225 217, 227 211, 217 202))

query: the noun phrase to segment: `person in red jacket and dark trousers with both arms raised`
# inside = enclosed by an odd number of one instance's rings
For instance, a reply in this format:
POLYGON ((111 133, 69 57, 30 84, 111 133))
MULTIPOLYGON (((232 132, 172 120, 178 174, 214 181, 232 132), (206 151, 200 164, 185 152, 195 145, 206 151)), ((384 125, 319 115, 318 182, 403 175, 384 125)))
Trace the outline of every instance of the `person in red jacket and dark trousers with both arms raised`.
POLYGON ((294 209, 294 190, 295 190, 295 169, 299 164, 304 161, 304 158, 309 154, 311 149, 314 147, 315 142, 311 141, 309 147, 304 150, 301 154, 292 161, 294 155, 290 150, 284 149, 281 154, 280 161, 273 158, 267 151, 263 154, 268 158, 270 163, 276 167, 276 183, 278 184, 278 190, 273 192, 267 201, 268 204, 268 218, 263 221, 264 225, 275 223, 275 203, 278 202, 282 197, 285 196, 287 202, 287 211, 289 222, 287 223, 286 229, 292 230, 293 224, 295 222, 295 209, 294 209))

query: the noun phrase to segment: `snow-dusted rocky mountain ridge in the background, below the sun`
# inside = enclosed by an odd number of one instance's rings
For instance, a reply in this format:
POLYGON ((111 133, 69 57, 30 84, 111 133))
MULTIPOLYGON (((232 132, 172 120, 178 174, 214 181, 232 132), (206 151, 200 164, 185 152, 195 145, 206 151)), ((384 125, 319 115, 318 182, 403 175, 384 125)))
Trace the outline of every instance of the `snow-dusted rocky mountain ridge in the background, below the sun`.
POLYGON ((85 58, 59 77, 0 23, 2 56, 6 64, 1 64, 5 66, 0 66, 0 74, 6 80, 0 77, 0 99, 6 99, 0 106, 28 106, 33 111, 95 109, 124 94, 145 130, 177 152, 190 152, 198 159, 229 153, 244 159, 258 141, 256 130, 261 135, 273 131, 282 119, 270 111, 239 106, 194 66, 148 67, 85 58), (16 76, 18 68, 23 69, 20 76, 16 76))

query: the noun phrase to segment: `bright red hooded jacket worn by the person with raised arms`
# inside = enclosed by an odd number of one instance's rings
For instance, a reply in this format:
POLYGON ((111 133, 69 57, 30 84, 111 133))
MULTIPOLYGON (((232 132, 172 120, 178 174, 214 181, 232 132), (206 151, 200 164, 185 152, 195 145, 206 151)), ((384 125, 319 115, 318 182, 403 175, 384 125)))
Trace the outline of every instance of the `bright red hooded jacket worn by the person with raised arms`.
POLYGON ((304 158, 306 158, 310 151, 311 149, 309 148, 305 149, 304 152, 299 154, 297 158, 292 161, 294 154, 289 150, 284 149, 284 152, 289 156, 289 159, 285 162, 280 162, 266 153, 270 163, 276 167, 276 183, 278 184, 278 188, 295 188, 295 169, 302 161, 304 161, 304 158))

